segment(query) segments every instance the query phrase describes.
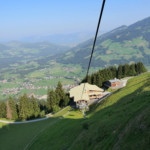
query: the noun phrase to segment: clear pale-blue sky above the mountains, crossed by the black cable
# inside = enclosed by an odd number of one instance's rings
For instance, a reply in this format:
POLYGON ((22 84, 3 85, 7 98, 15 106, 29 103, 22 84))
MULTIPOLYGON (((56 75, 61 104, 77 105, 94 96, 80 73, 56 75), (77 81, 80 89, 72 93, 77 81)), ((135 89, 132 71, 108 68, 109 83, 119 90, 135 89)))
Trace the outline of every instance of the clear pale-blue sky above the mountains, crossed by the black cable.
MULTIPOLYGON (((102 0, 0 0, 0 40, 95 32, 102 0)), ((150 16, 149 0, 106 0, 100 31, 150 16)))

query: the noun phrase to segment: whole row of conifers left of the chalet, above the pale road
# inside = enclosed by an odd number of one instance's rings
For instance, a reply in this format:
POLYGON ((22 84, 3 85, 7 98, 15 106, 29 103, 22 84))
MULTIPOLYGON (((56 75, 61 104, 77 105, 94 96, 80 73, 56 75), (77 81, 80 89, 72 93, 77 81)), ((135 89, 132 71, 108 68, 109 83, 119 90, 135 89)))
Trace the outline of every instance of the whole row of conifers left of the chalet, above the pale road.
POLYGON ((20 96, 18 102, 12 97, 8 101, 0 102, 0 118, 10 120, 29 120, 44 117, 45 113, 56 112, 61 107, 68 105, 69 97, 58 82, 55 90, 48 90, 47 101, 38 101, 27 94, 20 96))

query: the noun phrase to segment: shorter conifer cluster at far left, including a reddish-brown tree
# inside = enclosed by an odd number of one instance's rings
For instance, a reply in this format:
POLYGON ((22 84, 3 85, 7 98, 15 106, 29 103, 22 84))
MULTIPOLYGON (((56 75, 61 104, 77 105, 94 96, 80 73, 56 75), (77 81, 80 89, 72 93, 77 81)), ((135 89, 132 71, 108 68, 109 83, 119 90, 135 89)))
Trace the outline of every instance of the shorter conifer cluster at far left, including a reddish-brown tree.
POLYGON ((18 102, 12 97, 6 103, 0 102, 0 118, 29 120, 44 116, 45 112, 40 110, 38 101, 33 96, 29 98, 27 94, 20 96, 18 102))

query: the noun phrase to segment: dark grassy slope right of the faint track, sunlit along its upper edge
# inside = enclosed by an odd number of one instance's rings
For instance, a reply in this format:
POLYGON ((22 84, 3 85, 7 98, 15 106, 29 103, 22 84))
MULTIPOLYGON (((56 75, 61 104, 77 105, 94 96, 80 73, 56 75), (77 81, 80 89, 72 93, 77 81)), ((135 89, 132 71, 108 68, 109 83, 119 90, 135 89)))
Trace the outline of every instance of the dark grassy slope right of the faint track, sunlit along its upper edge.
POLYGON ((148 80, 150 74, 131 79, 126 88, 96 107, 85 121, 66 118, 61 124, 47 128, 31 149, 148 149, 148 80), (89 124, 88 130, 82 129, 84 122, 89 124))

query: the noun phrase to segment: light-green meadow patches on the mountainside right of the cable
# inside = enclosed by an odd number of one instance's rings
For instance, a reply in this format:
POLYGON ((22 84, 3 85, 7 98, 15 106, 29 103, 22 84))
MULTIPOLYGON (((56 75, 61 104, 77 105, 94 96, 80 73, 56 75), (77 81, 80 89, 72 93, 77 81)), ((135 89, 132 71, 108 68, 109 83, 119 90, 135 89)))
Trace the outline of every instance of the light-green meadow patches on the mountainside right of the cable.
MULTIPOLYGON (((150 49, 148 48, 148 45, 148 42, 144 40, 143 37, 124 40, 122 42, 114 42, 110 39, 105 40, 97 45, 99 51, 95 52, 95 61, 102 59, 106 64, 109 64, 111 60, 119 61, 121 58, 126 60, 132 59, 132 57, 143 59, 140 48, 143 47, 145 54, 149 55, 150 49), (100 46, 106 49, 105 53, 99 48, 100 46)), ((84 58, 86 58, 86 56, 84 56, 84 58)))

